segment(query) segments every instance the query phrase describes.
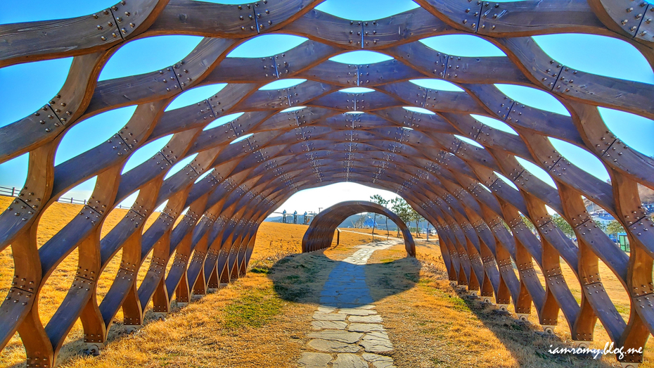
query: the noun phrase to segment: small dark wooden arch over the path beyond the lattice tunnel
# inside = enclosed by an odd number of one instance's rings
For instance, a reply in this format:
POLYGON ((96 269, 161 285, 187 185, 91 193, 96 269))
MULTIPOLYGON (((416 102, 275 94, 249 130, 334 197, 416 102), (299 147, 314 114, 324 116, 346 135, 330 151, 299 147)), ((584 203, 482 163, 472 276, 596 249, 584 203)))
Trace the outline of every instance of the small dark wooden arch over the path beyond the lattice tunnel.
POLYGON ((416 243, 413 242, 411 231, 409 231, 409 227, 406 227, 404 221, 388 208, 368 201, 337 203, 316 215, 309 225, 309 229, 307 229, 302 237, 302 253, 331 247, 336 227, 345 221, 347 217, 357 215, 357 213, 361 212, 374 212, 390 218, 392 222, 395 222, 397 228, 402 231, 406 254, 411 257, 416 256, 416 243))

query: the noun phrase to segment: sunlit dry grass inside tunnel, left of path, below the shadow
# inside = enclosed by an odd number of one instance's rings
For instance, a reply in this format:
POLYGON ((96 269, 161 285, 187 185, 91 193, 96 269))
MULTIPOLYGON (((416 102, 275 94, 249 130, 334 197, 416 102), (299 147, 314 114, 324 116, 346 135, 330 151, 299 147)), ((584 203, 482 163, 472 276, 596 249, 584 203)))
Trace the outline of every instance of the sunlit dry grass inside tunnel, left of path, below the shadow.
POLYGON ((306 343, 298 331, 309 328, 314 309, 281 299, 267 274, 250 272, 166 321, 108 343, 99 357, 75 357, 65 366, 290 367, 306 343), (243 307, 250 314, 236 312, 243 307))

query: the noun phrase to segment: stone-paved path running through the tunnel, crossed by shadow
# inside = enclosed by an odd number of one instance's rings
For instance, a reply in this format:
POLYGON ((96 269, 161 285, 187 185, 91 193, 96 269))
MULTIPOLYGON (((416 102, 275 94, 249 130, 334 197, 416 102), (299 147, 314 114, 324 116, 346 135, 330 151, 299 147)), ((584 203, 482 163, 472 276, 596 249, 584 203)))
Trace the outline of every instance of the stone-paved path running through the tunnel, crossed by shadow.
POLYGON ((375 250, 402 243, 400 240, 368 243, 334 267, 320 294, 314 313, 307 351, 298 367, 395 368, 385 356, 393 344, 377 314, 366 284, 364 265, 375 250))

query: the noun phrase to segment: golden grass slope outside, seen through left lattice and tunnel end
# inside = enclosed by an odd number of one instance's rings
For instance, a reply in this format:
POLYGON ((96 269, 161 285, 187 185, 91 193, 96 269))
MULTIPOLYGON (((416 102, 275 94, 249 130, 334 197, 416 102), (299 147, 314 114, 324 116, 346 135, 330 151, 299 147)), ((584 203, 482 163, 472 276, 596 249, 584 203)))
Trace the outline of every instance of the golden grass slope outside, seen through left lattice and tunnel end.
MULTIPOLYGON (((0 208, 6 208, 11 201, 12 198, 0 196, 0 208)), ((65 224, 70 222, 81 208, 82 205, 53 203, 53 205, 46 210, 39 222, 37 245, 39 247, 43 246, 43 244, 56 234, 57 231, 63 229, 65 224)), ((124 209, 113 210, 103 224, 102 235, 104 236, 113 229, 126 213, 127 210, 124 209)), ((156 220, 157 215, 158 214, 155 213, 153 216, 148 218, 145 229, 156 220)), ((261 226, 261 231, 257 233, 257 241, 252 253, 250 264, 272 265, 272 263, 283 258, 283 256, 291 253, 300 253, 302 250, 302 236, 306 229, 306 225, 264 222, 261 226)), ((345 234, 341 236, 341 244, 366 243, 368 240, 364 240, 364 238, 367 239, 366 236, 360 234, 345 234)), ((98 279, 98 303, 100 303, 106 295, 115 275, 117 274, 121 256, 122 253, 119 251, 98 279)), ((174 256, 171 257, 171 260, 172 258, 174 258, 174 256)), ((150 256, 146 258, 140 269, 137 277, 137 282, 139 284, 143 280, 143 277, 145 277, 149 263, 150 256)), ((170 263, 168 265, 168 268, 169 267, 170 263)), ((77 250, 74 250, 51 274, 42 288, 41 293, 39 293, 39 313, 41 322, 44 325, 49 322, 58 306, 62 303, 63 298, 65 298, 68 289, 72 285, 76 269, 77 250)), ((0 252, 0 296, 2 298, 4 298, 9 291, 12 277, 13 258, 10 247, 0 252)), ((148 305, 148 309, 151 309, 151 303, 148 305)), ((148 316, 149 313, 146 312, 146 318, 148 316)), ((114 322, 115 325, 110 329, 109 341, 114 341, 124 335, 122 329, 122 310, 117 313, 114 322)), ((70 331, 70 334, 61 350, 60 356, 63 357, 64 361, 68 360, 69 357, 77 355, 79 351, 84 348, 82 337, 82 323, 78 320, 70 331)), ((7 344, 6 348, 0 351, 0 367, 11 367, 14 364, 22 364, 23 362, 25 362, 25 349, 23 348, 23 344, 20 342, 20 337, 18 334, 15 334, 7 344)))

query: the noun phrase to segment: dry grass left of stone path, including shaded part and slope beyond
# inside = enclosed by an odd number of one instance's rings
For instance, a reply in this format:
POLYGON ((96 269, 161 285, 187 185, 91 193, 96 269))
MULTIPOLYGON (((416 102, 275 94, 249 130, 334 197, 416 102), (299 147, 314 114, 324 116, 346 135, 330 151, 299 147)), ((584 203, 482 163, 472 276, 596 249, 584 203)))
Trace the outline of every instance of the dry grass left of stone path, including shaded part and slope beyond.
MULTIPOLYGON (((298 250, 305 230, 264 222, 246 277, 66 367, 296 367, 334 264, 321 253, 284 254, 298 250)), ((345 243, 337 247, 344 253, 358 244, 345 243)))

